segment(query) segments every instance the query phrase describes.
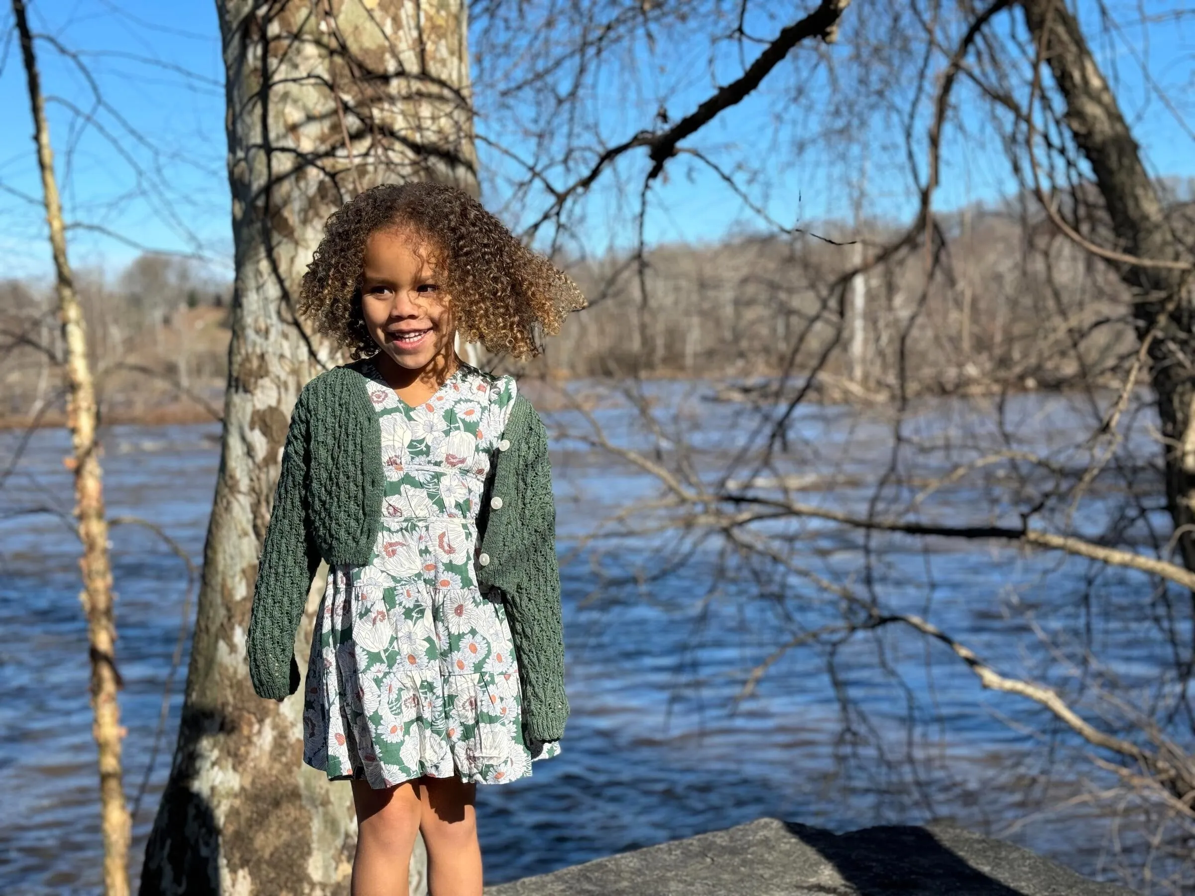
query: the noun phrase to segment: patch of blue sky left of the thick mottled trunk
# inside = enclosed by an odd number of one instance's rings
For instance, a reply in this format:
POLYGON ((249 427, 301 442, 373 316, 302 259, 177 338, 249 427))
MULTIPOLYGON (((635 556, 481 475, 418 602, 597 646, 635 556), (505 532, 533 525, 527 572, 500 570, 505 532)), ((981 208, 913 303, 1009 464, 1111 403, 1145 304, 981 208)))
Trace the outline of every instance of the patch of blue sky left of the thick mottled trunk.
MULTIPOLYGON (((68 220, 106 228, 72 232, 79 266, 122 266, 139 246, 198 252, 227 263, 223 66, 215 7, 209 2, 35 0, 30 20, 79 54, 109 108, 96 108, 80 68, 38 42, 50 134, 68 220), (185 72, 186 74, 183 74, 185 72), (67 105, 97 125, 79 134, 67 105), (106 136, 105 136, 106 135, 106 136)), ((0 16, 11 29, 11 12, 0 16)), ((11 35, 11 30, 10 30, 11 35)), ((7 276, 48 268, 32 119, 19 48, 10 37, 0 70, 0 252, 7 276)))

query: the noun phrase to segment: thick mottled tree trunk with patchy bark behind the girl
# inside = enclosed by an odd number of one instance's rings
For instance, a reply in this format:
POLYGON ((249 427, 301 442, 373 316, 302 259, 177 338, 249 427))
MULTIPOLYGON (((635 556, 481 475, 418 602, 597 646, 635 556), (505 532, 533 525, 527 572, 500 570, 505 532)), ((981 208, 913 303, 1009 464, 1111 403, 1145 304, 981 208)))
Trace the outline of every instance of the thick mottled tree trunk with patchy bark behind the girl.
MULTIPOLYGON (((360 189, 476 191, 462 0, 217 0, 235 286, 223 444, 171 777, 143 894, 343 894, 348 784, 301 763, 302 689, 253 694, 245 630, 289 412, 337 358, 294 305, 327 215, 360 189)), ((311 609, 296 639, 306 668, 311 609)))

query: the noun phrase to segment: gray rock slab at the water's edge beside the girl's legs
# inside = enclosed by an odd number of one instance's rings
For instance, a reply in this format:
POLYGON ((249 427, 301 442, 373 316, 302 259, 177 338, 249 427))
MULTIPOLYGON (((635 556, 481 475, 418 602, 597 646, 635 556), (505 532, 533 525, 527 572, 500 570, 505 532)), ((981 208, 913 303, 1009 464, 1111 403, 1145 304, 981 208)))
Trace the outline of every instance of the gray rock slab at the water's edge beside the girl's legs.
POLYGON ((952 826, 832 834, 760 818, 486 888, 489 896, 1132 896, 952 826))

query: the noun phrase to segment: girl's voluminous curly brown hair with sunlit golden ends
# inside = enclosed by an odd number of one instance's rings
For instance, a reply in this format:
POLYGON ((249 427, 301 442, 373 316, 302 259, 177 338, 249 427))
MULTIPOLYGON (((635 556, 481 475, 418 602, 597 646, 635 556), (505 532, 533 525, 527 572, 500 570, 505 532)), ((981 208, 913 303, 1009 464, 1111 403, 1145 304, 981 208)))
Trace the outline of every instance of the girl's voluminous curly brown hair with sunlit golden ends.
POLYGON ((376 351, 361 314, 366 241, 378 231, 410 228, 425 239, 455 317, 456 331, 488 351, 540 354, 537 327, 559 332, 583 308, 577 286, 523 246, 472 196, 447 184, 374 186, 332 213, 304 274, 299 312, 354 358, 376 351))

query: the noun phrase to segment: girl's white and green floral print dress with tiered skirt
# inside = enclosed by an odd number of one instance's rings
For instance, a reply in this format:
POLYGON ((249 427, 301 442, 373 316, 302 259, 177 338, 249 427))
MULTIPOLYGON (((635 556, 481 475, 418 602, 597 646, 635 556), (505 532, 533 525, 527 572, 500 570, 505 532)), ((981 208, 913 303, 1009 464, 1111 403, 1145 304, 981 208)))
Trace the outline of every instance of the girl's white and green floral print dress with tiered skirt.
MULTIPOLYGON (((482 595, 477 515, 516 386, 467 364, 411 407, 363 366, 386 490, 373 557, 329 571, 312 638, 304 761, 373 787, 531 774, 505 608, 482 595)), ((535 759, 557 743, 535 744, 535 759)))

